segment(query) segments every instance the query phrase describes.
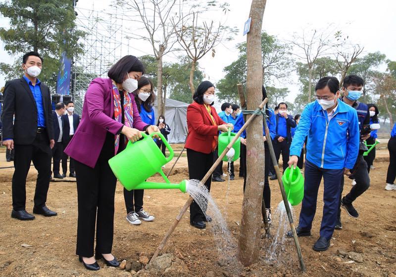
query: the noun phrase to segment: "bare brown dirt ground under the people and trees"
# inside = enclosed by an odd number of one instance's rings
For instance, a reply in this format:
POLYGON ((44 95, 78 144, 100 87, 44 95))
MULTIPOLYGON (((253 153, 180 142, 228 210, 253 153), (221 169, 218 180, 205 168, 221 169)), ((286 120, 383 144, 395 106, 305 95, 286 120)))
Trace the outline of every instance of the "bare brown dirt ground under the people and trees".
MULTIPOLYGON (((219 263, 214 247, 210 224, 206 230, 189 225, 188 212, 170 238, 162 253, 173 255, 172 266, 165 271, 142 270, 133 275, 125 270, 107 268, 102 261, 98 272, 89 272, 78 262, 75 255, 77 228, 77 192, 74 182, 52 182, 48 194, 48 206, 58 216, 45 218, 36 215, 33 221, 22 222, 10 217, 11 178, 13 169, 0 169, 0 276, 1 277, 395 277, 396 275, 396 191, 385 191, 385 176, 388 168, 387 151, 378 151, 375 169, 370 173, 370 189, 355 201, 360 216, 353 219, 342 212, 344 229, 336 230, 332 246, 326 252, 315 252, 312 245, 319 236, 323 207, 323 187, 319 190, 318 208, 313 223, 312 236, 299 238, 302 255, 307 268, 301 273, 297 254, 291 241, 285 246, 286 259, 280 265, 268 263, 265 253, 269 239, 262 239, 260 259, 248 268, 219 263), (23 247, 22 244, 30 246, 23 247), (337 250, 360 253, 363 262, 353 262, 337 255, 337 250), (237 270, 235 270, 237 268, 237 270)), ((0 153, 0 167, 12 166, 0 153)), ((172 163, 167 164, 165 172, 172 163)), ((170 180, 180 182, 188 179, 186 158, 181 158, 176 174, 170 180)), ((238 166, 236 166, 238 168, 238 166)), ((35 170, 32 167, 27 182, 27 205, 33 208, 35 170)), ((238 176, 238 174, 237 174, 238 176)), ((152 180, 159 181, 159 177, 152 180)), ((279 186, 270 181, 272 210, 281 200, 279 186)), ((351 187, 346 181, 345 191, 351 187)), ((211 194, 221 211, 227 209, 227 223, 238 239, 239 222, 243 200, 243 179, 231 181, 226 200, 227 182, 212 183, 211 194)), ((150 257, 173 222, 188 195, 176 190, 146 190, 144 207, 155 216, 153 222, 132 226, 126 220, 122 186, 117 185, 115 195, 114 243, 112 253, 118 260, 138 260, 140 255, 150 257), (143 254, 142 254, 143 253, 143 254)), ((300 205, 295 207, 296 224, 300 205)), ((276 226, 277 218, 273 218, 276 226)), ((271 228, 274 234, 276 228, 271 228)), ((25 245, 26 246, 26 245, 25 245)))

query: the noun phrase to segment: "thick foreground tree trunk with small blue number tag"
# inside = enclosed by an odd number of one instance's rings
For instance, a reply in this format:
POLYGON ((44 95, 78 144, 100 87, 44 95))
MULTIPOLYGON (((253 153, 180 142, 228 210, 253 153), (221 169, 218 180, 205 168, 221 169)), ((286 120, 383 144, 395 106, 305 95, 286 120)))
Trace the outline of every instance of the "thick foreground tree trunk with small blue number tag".
MULTIPOLYGON (((253 0, 251 25, 247 34, 247 109, 255 110, 262 102, 261 27, 266 0, 253 0)), ((250 116, 249 116, 250 117, 250 116)), ((242 205, 238 259, 248 266, 258 259, 261 245, 261 202, 264 188, 264 143, 262 118, 247 127, 247 182, 242 205)))

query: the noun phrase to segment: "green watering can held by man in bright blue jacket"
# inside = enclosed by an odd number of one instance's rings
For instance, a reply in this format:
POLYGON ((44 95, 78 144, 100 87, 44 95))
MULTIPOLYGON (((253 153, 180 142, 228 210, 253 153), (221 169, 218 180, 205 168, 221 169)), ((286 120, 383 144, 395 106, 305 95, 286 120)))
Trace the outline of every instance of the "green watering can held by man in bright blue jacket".
POLYGON ((304 198, 304 177, 298 167, 286 168, 282 176, 283 186, 292 206, 301 203, 304 198))

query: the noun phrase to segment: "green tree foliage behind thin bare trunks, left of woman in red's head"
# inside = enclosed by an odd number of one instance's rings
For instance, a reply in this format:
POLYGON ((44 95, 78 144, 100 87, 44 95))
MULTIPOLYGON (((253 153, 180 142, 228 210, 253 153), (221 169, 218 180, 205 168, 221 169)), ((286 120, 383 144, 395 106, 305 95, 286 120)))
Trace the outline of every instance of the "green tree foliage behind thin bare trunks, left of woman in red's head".
MULTIPOLYGON (((146 75, 157 86, 157 61, 154 56, 146 55, 140 57, 146 67, 146 75)), ((198 66, 197 66, 198 68, 198 66)), ((179 63, 164 63, 162 72, 162 90, 166 97, 192 103, 191 90, 189 86, 191 63, 186 57, 181 57, 179 63)), ((197 69, 194 73, 194 86, 197 87, 203 79, 202 72, 197 69)))

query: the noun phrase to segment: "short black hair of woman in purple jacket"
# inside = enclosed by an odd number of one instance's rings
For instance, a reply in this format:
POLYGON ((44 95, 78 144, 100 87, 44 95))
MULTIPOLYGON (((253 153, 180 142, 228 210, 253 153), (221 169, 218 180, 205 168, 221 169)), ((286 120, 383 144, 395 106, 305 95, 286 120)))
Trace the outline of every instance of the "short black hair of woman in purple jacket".
POLYGON ((136 71, 145 74, 145 66, 135 56, 127 55, 116 62, 108 71, 107 76, 116 83, 124 81, 125 74, 136 71))

